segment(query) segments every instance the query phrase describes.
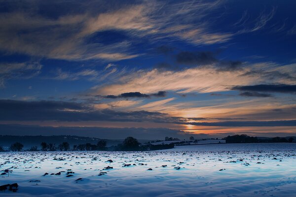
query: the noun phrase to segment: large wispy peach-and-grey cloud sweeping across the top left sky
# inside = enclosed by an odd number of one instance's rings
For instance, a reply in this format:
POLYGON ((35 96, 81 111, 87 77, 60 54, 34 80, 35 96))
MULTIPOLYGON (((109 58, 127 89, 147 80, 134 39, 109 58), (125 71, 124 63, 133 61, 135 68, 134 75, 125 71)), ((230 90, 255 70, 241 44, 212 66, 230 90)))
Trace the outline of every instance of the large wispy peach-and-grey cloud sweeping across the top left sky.
POLYGON ((212 29, 213 18, 207 19, 222 5, 219 0, 124 1, 117 2, 116 6, 104 1, 70 0, 67 6, 65 2, 26 2, 26 6, 8 2, 9 9, 0 12, 0 50, 7 54, 119 61, 143 55, 134 51, 133 43, 144 38, 154 43, 170 38, 193 44, 214 44, 226 42, 232 36, 212 29), (52 7, 55 9, 51 12, 52 7), (96 35, 108 31, 121 31, 127 37, 110 43, 96 41, 96 35))

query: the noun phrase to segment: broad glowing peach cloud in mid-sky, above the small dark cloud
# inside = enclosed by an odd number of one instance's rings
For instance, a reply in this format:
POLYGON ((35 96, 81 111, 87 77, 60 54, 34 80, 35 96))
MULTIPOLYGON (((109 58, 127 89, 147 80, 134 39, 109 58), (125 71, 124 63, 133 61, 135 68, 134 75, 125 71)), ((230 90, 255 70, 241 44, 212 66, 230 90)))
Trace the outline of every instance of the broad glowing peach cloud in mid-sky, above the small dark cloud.
POLYGON ((182 70, 138 70, 118 76, 113 84, 92 88, 95 95, 119 95, 126 92, 149 94, 158 91, 210 93, 228 91, 229 86, 249 85, 259 76, 242 75, 243 70, 221 74, 213 67, 192 67, 182 70))

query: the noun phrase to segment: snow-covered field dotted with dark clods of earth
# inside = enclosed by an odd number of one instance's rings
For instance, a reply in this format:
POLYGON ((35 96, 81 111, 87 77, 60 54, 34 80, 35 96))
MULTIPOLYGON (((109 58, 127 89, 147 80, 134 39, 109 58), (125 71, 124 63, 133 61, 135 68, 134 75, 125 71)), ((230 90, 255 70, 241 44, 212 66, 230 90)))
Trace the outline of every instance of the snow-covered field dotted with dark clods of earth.
POLYGON ((1 197, 296 196, 296 143, 0 153, 1 173, 5 169, 13 171, 0 176, 0 185, 18 183, 19 188, 15 193, 0 191, 1 197))

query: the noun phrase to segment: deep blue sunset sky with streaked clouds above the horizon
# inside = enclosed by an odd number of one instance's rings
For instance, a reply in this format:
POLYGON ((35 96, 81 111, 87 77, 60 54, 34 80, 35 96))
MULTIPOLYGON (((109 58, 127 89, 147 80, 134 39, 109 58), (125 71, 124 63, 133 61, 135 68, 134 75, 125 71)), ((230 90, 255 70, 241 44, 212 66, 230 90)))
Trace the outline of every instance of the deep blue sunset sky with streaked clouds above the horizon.
POLYGON ((0 134, 296 135, 295 0, 0 0, 0 134))

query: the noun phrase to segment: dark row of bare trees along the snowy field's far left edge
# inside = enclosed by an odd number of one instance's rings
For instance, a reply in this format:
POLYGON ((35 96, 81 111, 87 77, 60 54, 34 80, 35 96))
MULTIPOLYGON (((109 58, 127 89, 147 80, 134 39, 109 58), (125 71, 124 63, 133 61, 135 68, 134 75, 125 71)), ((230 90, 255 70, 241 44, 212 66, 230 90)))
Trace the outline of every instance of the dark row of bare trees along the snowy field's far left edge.
MULTIPOLYGON (((39 150, 37 146, 33 146, 30 149, 24 150, 24 145, 20 142, 13 143, 9 150, 13 152, 20 151, 149 151, 149 150, 162 150, 174 148, 174 144, 145 144, 141 145, 139 141, 134 137, 126 137, 121 144, 117 146, 107 147, 107 142, 105 140, 98 141, 97 144, 85 143, 79 145, 73 145, 71 148, 68 142, 63 142, 56 146, 53 143, 41 142, 41 149, 39 150)), ((0 146, 0 152, 5 150, 0 146)))

